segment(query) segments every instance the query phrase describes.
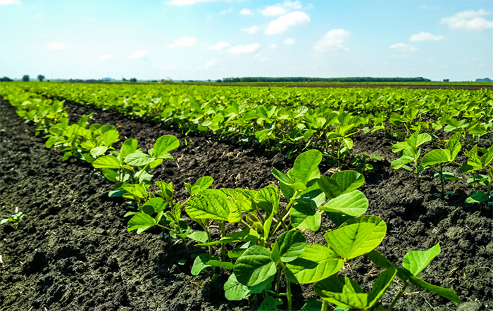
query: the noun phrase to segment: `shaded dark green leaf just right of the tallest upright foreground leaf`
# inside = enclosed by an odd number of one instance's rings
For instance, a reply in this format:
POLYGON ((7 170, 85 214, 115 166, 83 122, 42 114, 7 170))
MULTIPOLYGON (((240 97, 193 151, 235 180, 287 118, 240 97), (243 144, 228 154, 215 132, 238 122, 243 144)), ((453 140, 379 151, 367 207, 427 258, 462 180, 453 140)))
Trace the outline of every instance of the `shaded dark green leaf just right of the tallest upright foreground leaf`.
POLYGON ((349 193, 363 186, 365 177, 353 170, 335 172, 332 176, 320 176, 318 186, 323 190, 327 198, 336 198, 344 193, 349 193))

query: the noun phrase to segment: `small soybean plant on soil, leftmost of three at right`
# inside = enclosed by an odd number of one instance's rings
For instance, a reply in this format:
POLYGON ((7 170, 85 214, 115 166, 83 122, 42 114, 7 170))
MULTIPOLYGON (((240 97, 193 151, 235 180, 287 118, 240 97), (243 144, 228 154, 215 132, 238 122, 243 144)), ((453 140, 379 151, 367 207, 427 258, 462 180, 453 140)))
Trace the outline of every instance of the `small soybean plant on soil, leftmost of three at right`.
POLYGON ((416 184, 420 184, 419 174, 423 170, 423 167, 419 165, 421 148, 420 146, 430 141, 432 137, 428 133, 414 132, 411 137, 406 138, 405 141, 394 144, 392 146, 392 152, 399 152, 399 158, 393 160, 390 164, 394 170, 404 168, 404 170, 413 171, 408 166, 409 163, 414 164, 414 173, 416 174, 416 184))

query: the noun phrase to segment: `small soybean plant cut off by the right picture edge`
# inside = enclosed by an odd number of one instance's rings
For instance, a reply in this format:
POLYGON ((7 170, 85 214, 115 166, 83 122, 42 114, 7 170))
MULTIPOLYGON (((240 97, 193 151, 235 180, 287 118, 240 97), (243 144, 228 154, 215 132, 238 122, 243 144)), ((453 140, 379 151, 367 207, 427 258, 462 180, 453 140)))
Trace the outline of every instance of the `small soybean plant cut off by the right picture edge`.
POLYGON ((485 184, 487 186, 487 192, 477 191, 471 194, 467 199, 466 203, 486 203, 485 208, 489 210, 489 198, 492 193, 492 180, 493 180, 493 146, 489 148, 478 148, 477 145, 466 152, 468 157, 468 162, 461 167, 461 172, 472 172, 473 173, 473 184, 485 184), (480 155, 482 153, 482 155, 480 155), (484 170, 487 176, 475 174, 480 170, 484 170))

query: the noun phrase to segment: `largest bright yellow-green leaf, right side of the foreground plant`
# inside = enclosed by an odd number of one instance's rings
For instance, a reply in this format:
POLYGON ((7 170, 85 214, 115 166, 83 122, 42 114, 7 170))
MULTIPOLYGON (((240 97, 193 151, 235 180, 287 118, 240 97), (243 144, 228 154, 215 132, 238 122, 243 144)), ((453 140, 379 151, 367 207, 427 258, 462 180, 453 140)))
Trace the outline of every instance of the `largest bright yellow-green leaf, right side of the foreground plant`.
POLYGON ((324 236, 330 248, 348 260, 370 253, 385 238, 386 232, 387 224, 380 217, 360 216, 347 220, 324 236))

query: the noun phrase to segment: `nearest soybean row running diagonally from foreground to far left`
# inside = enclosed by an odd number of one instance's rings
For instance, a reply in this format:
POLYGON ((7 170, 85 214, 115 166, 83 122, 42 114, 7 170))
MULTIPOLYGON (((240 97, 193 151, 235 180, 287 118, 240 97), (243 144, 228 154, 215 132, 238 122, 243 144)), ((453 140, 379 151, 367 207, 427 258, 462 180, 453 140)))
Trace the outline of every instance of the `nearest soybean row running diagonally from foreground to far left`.
MULTIPOLYGON (((116 127, 89 126, 90 115, 70 124, 63 101, 46 99, 23 89, 11 89, 4 96, 16 106, 20 117, 35 122, 39 134, 47 138, 46 147, 61 146, 63 158, 92 163, 116 183, 109 196, 123 196, 135 203, 135 210, 125 215, 131 216, 128 231, 136 230, 140 234, 160 227, 185 247, 192 240, 194 246, 206 248, 208 252, 194 260, 194 275, 232 270, 224 285, 229 300, 258 295, 263 298, 259 310, 276 310, 285 298, 287 310, 291 310, 294 283, 314 284, 314 291, 323 298, 323 303, 308 300, 304 310, 330 310, 331 303, 339 306, 339 310, 341 307, 370 310, 374 306, 377 310, 392 310, 411 285, 460 302, 454 291, 428 284, 418 277, 440 253, 439 244, 429 250, 408 252, 403 267, 396 267, 375 250, 385 238, 387 225, 380 217, 363 215, 368 199, 357 190, 364 183, 363 174, 351 170, 330 177, 320 174, 318 165, 323 153, 316 149, 301 153, 286 173, 272 170, 279 187, 210 189, 213 178, 206 176, 193 185, 185 183, 189 198, 177 201, 173 184, 153 182, 151 174, 163 160, 173 158, 170 151, 180 145, 176 137, 159 137, 146 153, 138 148, 136 139, 125 140, 120 150, 115 150, 113 144, 119 139, 116 127), (191 222, 184 220, 184 213, 191 222), (331 220, 333 227, 323 227, 322 217, 331 220), (220 228, 220 239, 212 239, 213 224, 220 228), (227 225, 230 228, 234 225, 237 230, 226 234, 227 225), (202 230, 194 231, 192 227, 202 230), (304 232, 308 230, 325 231, 327 246, 307 244, 304 232), (228 252, 226 244, 232 245, 228 252), (346 262, 362 255, 368 255, 383 269, 370 293, 363 293, 361 286, 348 277, 337 276, 346 262), (378 302, 395 277, 404 285, 392 303, 382 307, 378 302), (285 279, 285 293, 281 291, 282 279, 285 279)), ((418 147, 417 141, 425 140, 419 135, 422 134, 413 134, 406 143, 418 147)), ((458 139, 459 134, 453 141, 458 139)), ((450 144, 445 150, 455 153, 457 144, 450 144)))

